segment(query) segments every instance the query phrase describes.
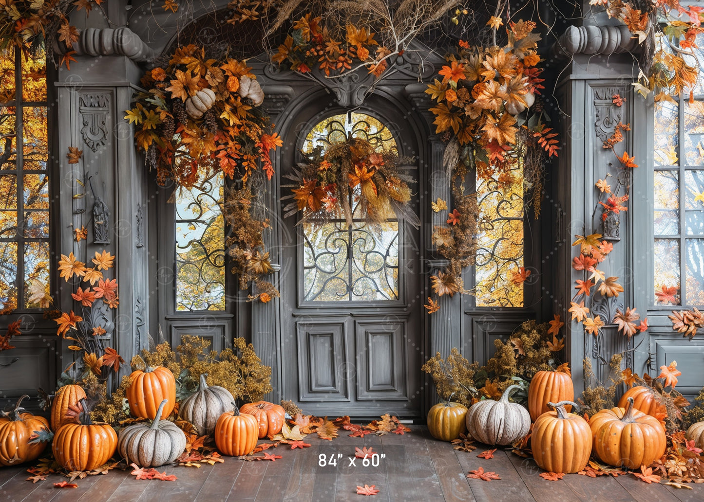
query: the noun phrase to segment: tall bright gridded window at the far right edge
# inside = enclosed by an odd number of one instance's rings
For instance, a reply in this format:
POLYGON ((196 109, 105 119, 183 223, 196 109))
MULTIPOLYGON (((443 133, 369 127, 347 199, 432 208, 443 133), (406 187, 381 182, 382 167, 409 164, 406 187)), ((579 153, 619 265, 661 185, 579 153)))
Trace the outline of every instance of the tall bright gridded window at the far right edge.
MULTIPOLYGON (((696 50, 696 49, 694 49, 696 50)), ((703 51, 698 51, 704 60, 703 51)), ((704 305, 704 79, 655 103, 653 304, 704 305)))

